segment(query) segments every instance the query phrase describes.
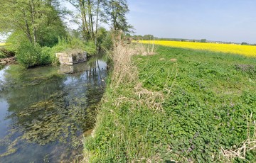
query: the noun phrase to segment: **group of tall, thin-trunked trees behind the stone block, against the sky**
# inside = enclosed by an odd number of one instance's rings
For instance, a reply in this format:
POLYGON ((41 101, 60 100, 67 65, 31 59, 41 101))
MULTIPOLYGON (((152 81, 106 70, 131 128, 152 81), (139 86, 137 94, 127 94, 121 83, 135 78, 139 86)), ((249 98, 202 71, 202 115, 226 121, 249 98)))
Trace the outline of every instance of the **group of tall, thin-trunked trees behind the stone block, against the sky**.
POLYGON ((80 29, 83 40, 94 40, 98 44, 98 37, 102 37, 99 32, 99 23, 109 23, 113 29, 129 32, 126 19, 128 5, 126 0, 68 0, 70 4, 78 9, 80 18, 80 29))

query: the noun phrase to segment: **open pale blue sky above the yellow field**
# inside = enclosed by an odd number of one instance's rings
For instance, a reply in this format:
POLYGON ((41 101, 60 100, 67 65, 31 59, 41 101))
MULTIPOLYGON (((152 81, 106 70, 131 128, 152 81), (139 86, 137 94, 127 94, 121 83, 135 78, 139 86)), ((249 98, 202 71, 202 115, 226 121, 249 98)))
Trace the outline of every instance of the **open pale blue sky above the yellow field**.
POLYGON ((256 0, 127 0, 136 35, 256 43, 256 0))

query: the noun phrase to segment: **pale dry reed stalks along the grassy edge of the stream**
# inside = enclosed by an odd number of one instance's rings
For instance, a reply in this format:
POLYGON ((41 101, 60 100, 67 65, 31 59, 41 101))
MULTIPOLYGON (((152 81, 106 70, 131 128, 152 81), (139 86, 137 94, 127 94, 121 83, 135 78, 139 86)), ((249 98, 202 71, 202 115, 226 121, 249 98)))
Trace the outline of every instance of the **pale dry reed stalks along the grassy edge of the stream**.
MULTIPOLYGON (((142 83, 139 83, 139 75, 137 71, 137 67, 132 63, 133 55, 154 55, 155 54, 155 46, 154 45, 144 45, 144 44, 135 44, 128 45, 124 44, 122 41, 122 37, 120 37, 122 33, 114 36, 116 38, 114 40, 114 52, 112 55, 112 60, 114 62, 113 74, 112 74, 112 88, 118 87, 119 84, 134 84, 134 94, 137 95, 139 101, 134 101, 137 105, 146 105, 148 108, 152 108, 155 111, 161 111, 162 106, 161 103, 164 101, 164 94, 160 91, 150 91, 148 89, 144 89, 142 87, 142 83)), ((171 70, 174 74, 174 81, 171 87, 169 88, 167 84, 163 91, 168 92, 168 96, 170 95, 171 88, 174 85, 177 73, 178 73, 178 64, 176 59, 171 59, 170 61, 166 61, 164 65, 168 64, 168 62, 175 62, 174 67, 171 70)), ((154 72, 151 75, 154 75, 156 72, 159 72, 159 69, 154 69, 154 72)), ((166 78, 166 82, 169 81, 170 75, 166 78)), ((144 82, 144 81, 142 81, 144 82)), ((123 101, 124 98, 119 99, 123 101)), ((129 99, 129 101, 133 101, 129 99)), ((119 104, 117 103, 117 105, 119 104)))

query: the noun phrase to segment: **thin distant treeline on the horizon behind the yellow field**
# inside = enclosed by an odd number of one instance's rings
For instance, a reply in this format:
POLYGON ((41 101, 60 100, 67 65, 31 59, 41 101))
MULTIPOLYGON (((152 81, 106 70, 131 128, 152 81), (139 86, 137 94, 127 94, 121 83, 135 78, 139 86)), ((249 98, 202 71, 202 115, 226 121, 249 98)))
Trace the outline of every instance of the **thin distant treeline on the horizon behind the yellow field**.
POLYGON ((256 44, 249 44, 249 43, 234 43, 234 42, 225 42, 225 41, 213 41, 213 40, 206 40, 205 38, 202 39, 187 39, 187 38, 157 38, 154 35, 132 35, 133 40, 171 40, 171 41, 181 41, 181 42, 194 42, 194 43, 222 43, 222 44, 236 44, 236 45, 253 45, 256 44))

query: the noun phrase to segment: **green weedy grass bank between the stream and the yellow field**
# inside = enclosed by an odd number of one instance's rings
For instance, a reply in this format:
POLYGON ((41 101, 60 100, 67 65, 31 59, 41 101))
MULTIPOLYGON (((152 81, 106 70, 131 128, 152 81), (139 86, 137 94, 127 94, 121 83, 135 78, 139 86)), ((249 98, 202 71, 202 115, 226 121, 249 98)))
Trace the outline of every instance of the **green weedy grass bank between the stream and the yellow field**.
POLYGON ((116 47, 85 161, 256 162, 256 59, 161 46, 132 57, 138 52, 116 47), (245 155, 232 154, 244 145, 245 155))

